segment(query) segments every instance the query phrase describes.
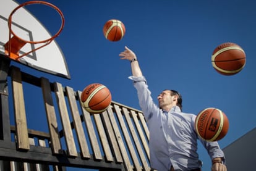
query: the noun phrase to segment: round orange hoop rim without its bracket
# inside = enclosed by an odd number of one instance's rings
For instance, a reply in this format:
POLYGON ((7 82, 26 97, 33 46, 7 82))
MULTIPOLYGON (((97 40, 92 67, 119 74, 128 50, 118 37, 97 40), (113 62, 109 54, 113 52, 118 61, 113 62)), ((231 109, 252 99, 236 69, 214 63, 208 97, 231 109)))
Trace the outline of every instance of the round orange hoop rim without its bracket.
MULTIPOLYGON (((59 34, 61 33, 61 31, 64 28, 64 23, 65 23, 65 19, 64 19, 64 15, 61 12, 61 10, 54 6, 53 4, 49 3, 49 2, 45 2, 45 1, 28 1, 28 2, 24 2, 23 4, 20 4, 19 6, 15 7, 14 10, 12 10, 11 14, 9 15, 9 19, 8 19, 8 27, 9 27, 9 31, 10 33, 12 33, 12 35, 16 36, 17 38, 19 38, 20 40, 24 41, 25 43, 31 43, 31 44, 37 44, 37 43, 46 43, 48 42, 48 44, 54 40, 54 38, 56 38, 57 36, 59 36, 59 34), (51 38, 48 38, 46 40, 41 40, 41 41, 29 41, 29 40, 23 40, 22 38, 20 38, 19 36, 17 36, 14 31, 12 31, 12 15, 21 7, 23 6, 27 6, 30 4, 44 4, 46 6, 52 7, 53 9, 57 10, 57 12, 59 13, 59 15, 61 16, 61 27, 59 28, 58 32, 54 35, 51 36, 51 38)), ((10 35, 11 36, 11 35, 10 35)))

